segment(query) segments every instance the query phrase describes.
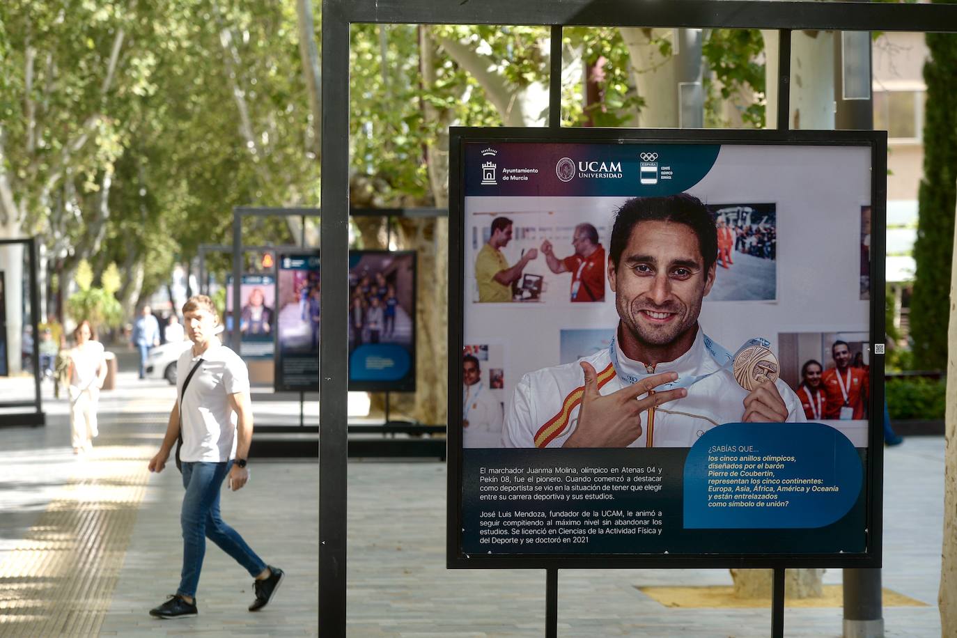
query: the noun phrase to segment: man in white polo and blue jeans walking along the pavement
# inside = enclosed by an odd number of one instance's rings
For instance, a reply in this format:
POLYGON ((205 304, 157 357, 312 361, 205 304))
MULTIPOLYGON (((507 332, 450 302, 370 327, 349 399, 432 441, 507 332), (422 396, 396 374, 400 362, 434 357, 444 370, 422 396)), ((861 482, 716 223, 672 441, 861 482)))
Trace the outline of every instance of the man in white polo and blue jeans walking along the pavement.
POLYGON ((166 603, 151 609, 156 618, 196 615, 196 588, 209 537, 253 576, 257 611, 269 604, 284 576, 262 561, 246 541, 219 516, 219 492, 229 476, 234 492, 249 480, 246 468, 253 439, 249 372, 233 350, 219 342, 219 322, 210 297, 189 297, 183 306, 187 336, 193 345, 177 363, 178 401, 169 413, 163 444, 149 461, 150 472, 163 472, 169 452, 182 434, 183 571, 179 588, 166 603))

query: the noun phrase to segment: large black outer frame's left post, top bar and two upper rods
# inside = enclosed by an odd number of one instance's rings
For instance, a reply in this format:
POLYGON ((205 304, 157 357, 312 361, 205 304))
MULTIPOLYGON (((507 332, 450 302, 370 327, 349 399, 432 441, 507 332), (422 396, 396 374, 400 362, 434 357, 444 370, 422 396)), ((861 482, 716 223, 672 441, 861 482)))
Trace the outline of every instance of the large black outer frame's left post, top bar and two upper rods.
MULTIPOLYGON (((790 30, 957 33, 957 6, 762 0, 323 0, 322 208, 323 305, 348 297, 349 26, 374 24, 510 24, 552 26, 552 52, 563 26, 759 28, 781 30, 779 128, 788 125, 790 30)), ((552 55, 551 68, 561 68, 552 55)), ((560 105, 560 77, 549 78, 551 124, 560 105)), ((882 248, 872 246, 875 253, 882 248)), ((872 264, 872 274, 873 274, 872 264)), ((883 276, 883 275, 881 275, 883 276)), ((872 277, 872 281, 873 281, 872 277)), ((881 313, 882 315, 882 313, 881 313)), ((873 317, 872 317, 873 320, 873 317)), ((873 333, 872 326, 872 333, 873 333)), ((346 404, 348 323, 345 313, 323 320, 320 357, 319 616, 326 635, 345 635, 346 404)))

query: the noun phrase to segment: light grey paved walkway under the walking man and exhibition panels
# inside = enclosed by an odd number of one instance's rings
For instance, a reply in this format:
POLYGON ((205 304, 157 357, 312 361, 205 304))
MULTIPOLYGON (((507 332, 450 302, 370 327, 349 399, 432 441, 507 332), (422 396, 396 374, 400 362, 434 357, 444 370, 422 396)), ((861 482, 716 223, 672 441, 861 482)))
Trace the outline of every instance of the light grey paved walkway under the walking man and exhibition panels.
MULTIPOLYGON (((49 387, 46 390, 49 393, 49 387)), ((210 544, 195 619, 146 611, 178 582, 179 474, 145 472, 174 399, 162 382, 121 374, 104 393, 93 453, 69 448, 66 410, 49 425, 0 429, 0 636, 316 635, 318 468, 256 461, 223 513, 288 578, 273 605, 249 613, 251 579, 210 544)), ((299 406, 262 402, 260 419, 299 406)), ((936 609, 943 524, 943 446, 910 438, 886 455, 883 584, 926 606, 885 607, 888 636, 940 636, 936 609)), ((541 636, 542 571, 445 569, 445 466, 349 464, 350 636, 541 636)), ((840 583, 829 570, 826 583, 840 583)), ((726 570, 563 570, 563 636, 765 637, 758 609, 666 608, 647 585, 730 584, 726 570)), ((840 636, 838 608, 789 609, 788 636, 840 636)))

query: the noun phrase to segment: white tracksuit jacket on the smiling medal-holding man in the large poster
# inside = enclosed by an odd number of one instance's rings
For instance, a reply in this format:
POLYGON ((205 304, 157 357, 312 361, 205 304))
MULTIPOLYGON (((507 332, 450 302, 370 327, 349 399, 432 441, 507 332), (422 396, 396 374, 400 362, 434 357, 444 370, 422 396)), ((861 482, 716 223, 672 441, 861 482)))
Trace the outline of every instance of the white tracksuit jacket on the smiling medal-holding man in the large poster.
MULTIPOLYGON (((662 372, 678 372, 682 378, 711 374, 688 387, 688 395, 655 408, 654 428, 648 427, 648 412, 642 412, 642 431, 629 448, 690 448, 709 429, 723 423, 741 421, 745 414, 746 390, 738 385, 728 369, 715 360, 705 347, 705 336, 698 329, 691 348, 673 362, 658 363, 649 372, 641 363, 628 359, 617 341, 614 348, 623 374, 642 378, 662 372)), ((585 376, 579 362, 587 361, 598 374, 599 392, 611 394, 625 387, 615 373, 608 349, 574 363, 546 367, 529 372, 516 386, 505 409, 502 447, 561 448, 578 422, 585 376)), ((789 422, 804 422, 801 402, 783 381, 775 383, 788 407, 789 422)), ((774 427, 774 424, 768 424, 774 427)))

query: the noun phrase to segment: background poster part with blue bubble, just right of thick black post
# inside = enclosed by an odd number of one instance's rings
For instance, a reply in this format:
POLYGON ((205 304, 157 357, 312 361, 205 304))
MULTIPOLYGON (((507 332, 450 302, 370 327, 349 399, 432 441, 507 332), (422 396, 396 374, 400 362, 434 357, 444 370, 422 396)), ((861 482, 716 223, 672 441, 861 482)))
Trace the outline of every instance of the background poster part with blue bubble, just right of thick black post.
POLYGON ((349 389, 415 391, 415 253, 349 252, 349 389))

